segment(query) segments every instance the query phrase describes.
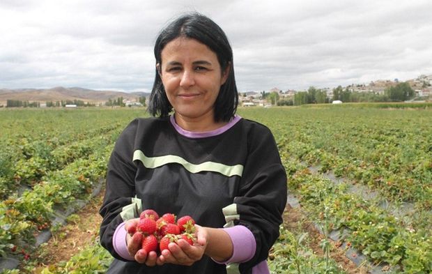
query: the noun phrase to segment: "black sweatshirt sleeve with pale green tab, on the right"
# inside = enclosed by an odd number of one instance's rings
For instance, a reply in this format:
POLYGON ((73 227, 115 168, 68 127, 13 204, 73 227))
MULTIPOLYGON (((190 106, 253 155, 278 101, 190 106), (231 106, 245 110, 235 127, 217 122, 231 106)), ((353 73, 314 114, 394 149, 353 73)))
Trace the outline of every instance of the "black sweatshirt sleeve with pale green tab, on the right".
POLYGON ((267 259, 279 237, 287 195, 286 172, 270 130, 257 125, 255 134, 248 137, 248 148, 238 196, 223 209, 226 227, 243 225, 252 231, 256 241, 255 254, 239 264, 240 273, 250 273, 267 259))

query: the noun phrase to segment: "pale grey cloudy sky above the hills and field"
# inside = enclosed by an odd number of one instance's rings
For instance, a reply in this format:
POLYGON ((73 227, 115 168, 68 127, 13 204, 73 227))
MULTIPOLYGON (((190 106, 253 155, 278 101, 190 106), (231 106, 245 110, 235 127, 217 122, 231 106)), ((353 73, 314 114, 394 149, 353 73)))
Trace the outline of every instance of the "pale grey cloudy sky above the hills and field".
POLYGON ((1 0, 0 89, 150 91, 176 15, 224 29, 240 91, 432 75, 430 0, 1 0))

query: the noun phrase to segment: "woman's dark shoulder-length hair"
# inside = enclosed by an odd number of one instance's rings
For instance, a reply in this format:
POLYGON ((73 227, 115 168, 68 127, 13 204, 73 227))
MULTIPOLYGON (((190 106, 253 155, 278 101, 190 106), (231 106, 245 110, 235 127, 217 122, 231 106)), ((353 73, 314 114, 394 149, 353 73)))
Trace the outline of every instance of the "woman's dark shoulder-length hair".
MULTIPOLYGON (((205 15, 185 13, 168 24, 157 36, 155 42, 156 63, 162 64, 161 52, 165 45, 179 37, 192 38, 207 45, 217 55, 222 73, 229 67, 228 78, 220 87, 215 102, 215 121, 229 121, 236 114, 238 91, 234 77, 233 50, 224 31, 205 15)), ((150 102, 148 102, 148 112, 153 116, 162 117, 168 116, 172 108, 160 74, 156 69, 155 82, 153 83, 150 102)))

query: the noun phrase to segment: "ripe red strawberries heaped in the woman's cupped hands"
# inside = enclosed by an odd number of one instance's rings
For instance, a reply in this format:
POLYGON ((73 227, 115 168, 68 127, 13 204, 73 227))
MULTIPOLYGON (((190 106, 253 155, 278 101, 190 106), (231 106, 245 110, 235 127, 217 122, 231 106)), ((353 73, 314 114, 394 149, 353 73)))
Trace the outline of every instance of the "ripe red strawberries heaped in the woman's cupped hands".
POLYGON ((156 211, 146 209, 139 215, 137 227, 128 227, 128 233, 131 236, 135 233, 143 235, 141 248, 147 253, 162 252, 168 249, 169 243, 177 243, 180 239, 193 245, 196 241, 194 224, 194 219, 189 215, 176 220, 176 215, 165 213, 159 218, 156 211))

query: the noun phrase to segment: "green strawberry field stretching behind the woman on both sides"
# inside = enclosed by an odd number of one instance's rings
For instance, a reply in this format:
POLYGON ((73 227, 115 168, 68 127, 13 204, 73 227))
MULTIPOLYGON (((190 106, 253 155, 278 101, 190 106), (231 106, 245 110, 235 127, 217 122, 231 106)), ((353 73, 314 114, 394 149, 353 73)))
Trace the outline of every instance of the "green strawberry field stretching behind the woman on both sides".
MULTIPOLYGON (((286 216, 302 213, 322 235, 318 252, 316 234, 287 217, 270 251, 272 273, 431 273, 432 109, 425 107, 238 109, 275 135, 288 173, 286 216)), ((139 116, 144 109, 0 110, 0 256, 20 262, 3 273, 104 273, 111 259, 97 236, 49 265, 35 236, 56 235, 54 216, 92 199, 118 134, 139 116)))

